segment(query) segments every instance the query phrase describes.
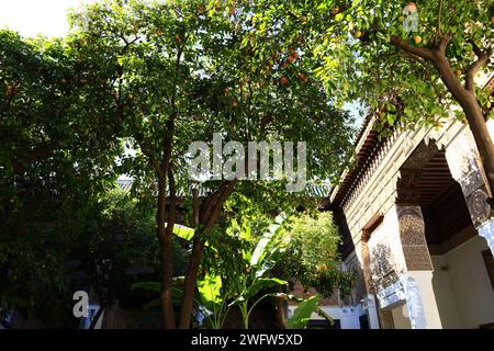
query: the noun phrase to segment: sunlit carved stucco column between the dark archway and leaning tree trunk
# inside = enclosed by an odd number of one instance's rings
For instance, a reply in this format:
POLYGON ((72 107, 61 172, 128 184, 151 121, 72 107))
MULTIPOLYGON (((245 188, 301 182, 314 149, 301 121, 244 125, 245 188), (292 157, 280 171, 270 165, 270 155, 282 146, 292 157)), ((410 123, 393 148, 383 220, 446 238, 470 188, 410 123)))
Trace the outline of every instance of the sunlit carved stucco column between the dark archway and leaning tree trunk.
MULTIPOLYGON (((492 129, 492 123, 491 123, 492 129)), ((446 158, 453 179, 460 183, 473 226, 487 240, 494 254, 494 211, 486 200, 492 196, 485 186, 470 129, 464 129, 446 149, 446 158)))

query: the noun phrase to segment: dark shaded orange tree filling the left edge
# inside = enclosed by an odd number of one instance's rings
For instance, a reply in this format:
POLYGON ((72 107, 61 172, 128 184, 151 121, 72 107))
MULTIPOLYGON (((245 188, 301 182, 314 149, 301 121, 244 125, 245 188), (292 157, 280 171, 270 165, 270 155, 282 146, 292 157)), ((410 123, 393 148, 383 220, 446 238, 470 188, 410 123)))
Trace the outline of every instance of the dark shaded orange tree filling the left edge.
POLYGON ((82 66, 61 39, 0 31, 0 305, 52 324, 70 309, 82 208, 116 178, 121 147, 82 66))

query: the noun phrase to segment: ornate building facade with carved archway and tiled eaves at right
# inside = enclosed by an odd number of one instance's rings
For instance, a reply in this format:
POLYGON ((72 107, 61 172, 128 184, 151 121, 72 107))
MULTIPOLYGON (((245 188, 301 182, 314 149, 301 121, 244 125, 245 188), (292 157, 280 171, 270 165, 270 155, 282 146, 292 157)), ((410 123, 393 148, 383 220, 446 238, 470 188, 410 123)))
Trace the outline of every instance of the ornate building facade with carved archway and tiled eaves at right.
POLYGON ((372 329, 492 328, 493 194, 468 124, 380 138, 374 123, 329 199, 356 275, 346 305, 372 329))

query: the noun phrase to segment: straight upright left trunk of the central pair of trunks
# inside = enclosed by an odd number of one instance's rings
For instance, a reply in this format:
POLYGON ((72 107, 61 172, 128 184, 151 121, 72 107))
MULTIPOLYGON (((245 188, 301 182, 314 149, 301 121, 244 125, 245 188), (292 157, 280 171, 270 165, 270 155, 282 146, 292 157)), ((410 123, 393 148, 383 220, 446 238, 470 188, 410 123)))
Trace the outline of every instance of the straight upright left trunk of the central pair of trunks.
POLYGON ((157 212, 157 236, 161 246, 161 267, 162 267, 162 286, 161 286, 161 313, 165 329, 176 328, 173 303, 172 303, 172 242, 171 235, 167 234, 165 228, 166 217, 166 174, 159 176, 158 183, 158 212, 157 212))

